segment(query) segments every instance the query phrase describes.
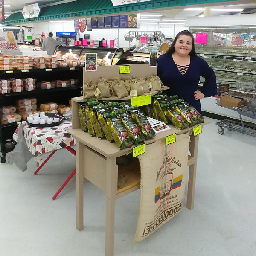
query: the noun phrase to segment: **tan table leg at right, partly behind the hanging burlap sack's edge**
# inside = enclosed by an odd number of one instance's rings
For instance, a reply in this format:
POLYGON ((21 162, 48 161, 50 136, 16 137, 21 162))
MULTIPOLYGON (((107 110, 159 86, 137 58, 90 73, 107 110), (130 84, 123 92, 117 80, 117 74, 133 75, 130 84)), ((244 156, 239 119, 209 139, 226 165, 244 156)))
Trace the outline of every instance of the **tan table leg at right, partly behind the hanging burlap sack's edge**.
POLYGON ((190 210, 194 208, 194 197, 195 197, 195 177, 196 177, 196 167, 198 158, 198 141, 199 135, 191 136, 191 142, 189 143, 189 151, 194 157, 195 163, 189 166, 189 184, 188 184, 188 195, 186 207, 190 210))

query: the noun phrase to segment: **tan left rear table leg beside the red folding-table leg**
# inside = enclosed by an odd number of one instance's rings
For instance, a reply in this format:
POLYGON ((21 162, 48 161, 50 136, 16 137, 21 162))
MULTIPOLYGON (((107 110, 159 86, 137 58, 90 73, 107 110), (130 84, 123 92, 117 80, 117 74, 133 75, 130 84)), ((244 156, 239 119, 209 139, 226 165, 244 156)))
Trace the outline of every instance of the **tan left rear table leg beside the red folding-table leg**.
POLYGON ((84 229, 84 145, 76 144, 76 228, 84 229))

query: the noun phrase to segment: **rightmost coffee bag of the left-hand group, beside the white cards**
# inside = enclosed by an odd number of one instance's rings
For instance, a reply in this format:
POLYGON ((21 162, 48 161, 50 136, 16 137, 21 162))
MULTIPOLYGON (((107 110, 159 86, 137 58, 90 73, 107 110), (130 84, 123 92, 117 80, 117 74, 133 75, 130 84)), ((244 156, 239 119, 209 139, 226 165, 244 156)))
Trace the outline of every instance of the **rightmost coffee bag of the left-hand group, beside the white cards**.
POLYGON ((128 110, 131 113, 131 117, 137 122, 140 131, 147 139, 152 138, 156 135, 150 123, 148 122, 147 117, 138 107, 130 107, 128 108, 128 110))

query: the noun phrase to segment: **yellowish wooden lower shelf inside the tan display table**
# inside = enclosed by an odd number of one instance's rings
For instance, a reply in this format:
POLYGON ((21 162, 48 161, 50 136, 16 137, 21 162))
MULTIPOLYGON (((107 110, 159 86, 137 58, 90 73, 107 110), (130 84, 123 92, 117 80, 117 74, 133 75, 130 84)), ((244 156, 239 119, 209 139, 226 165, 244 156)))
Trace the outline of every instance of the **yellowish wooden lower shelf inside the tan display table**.
MULTIPOLYGON (((195 163, 194 157, 188 157, 188 166, 191 166, 195 163)), ((123 174, 128 177, 127 181, 125 182, 125 186, 120 189, 117 189, 116 197, 122 197, 123 195, 127 195, 137 189, 140 189, 140 169, 139 168, 132 168, 130 166, 124 166, 118 168, 118 175, 123 174)))

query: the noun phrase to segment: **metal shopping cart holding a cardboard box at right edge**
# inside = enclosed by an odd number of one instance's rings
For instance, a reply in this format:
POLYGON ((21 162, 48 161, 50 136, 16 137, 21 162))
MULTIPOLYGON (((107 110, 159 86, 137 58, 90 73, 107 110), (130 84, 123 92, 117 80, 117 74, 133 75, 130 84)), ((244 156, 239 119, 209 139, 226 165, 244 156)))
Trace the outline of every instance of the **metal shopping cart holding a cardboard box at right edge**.
POLYGON ((240 122, 229 119, 216 122, 218 133, 238 131, 256 137, 256 124, 244 122, 242 116, 256 120, 256 81, 228 81, 218 83, 217 105, 232 109, 239 114, 240 122))

